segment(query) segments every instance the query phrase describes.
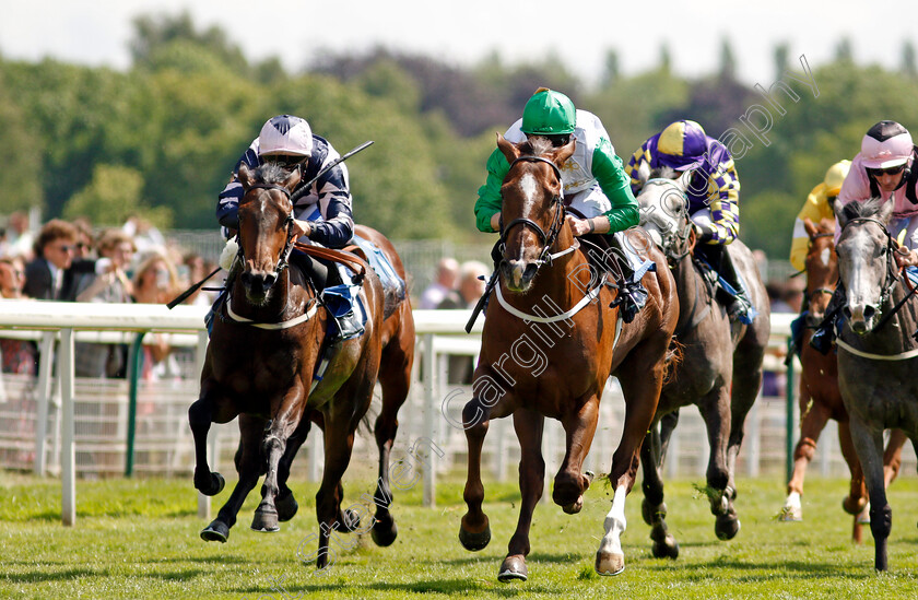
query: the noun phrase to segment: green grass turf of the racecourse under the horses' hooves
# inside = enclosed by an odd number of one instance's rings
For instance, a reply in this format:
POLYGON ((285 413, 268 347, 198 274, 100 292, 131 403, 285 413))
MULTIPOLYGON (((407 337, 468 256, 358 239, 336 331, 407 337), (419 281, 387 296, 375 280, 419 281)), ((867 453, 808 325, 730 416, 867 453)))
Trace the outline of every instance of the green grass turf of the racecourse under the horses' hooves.
MULTIPOLYGON (((227 481, 227 486, 235 480, 227 481)), ((188 480, 79 481, 78 521, 60 525, 60 482, 0 474, 0 598, 915 598, 918 596, 918 479, 890 490, 890 570, 873 570, 869 527, 850 542, 851 517, 840 508, 844 480, 807 481, 803 522, 778 522, 784 484, 741 479, 742 529, 717 541, 699 480, 667 486, 668 522, 680 543, 676 561, 654 558, 640 518, 639 485, 627 503, 626 569, 600 577, 592 568, 611 490, 596 482, 584 510, 568 516, 540 504, 531 530, 529 580, 499 584, 497 567, 516 527, 516 483, 485 483, 491 544, 467 552, 457 540, 464 513, 461 475, 437 487, 437 507, 421 506, 420 485, 396 494, 399 538, 376 548, 369 536, 341 537, 326 573, 297 558, 315 552, 315 484, 296 483, 299 514, 272 534, 248 528, 250 494, 226 544, 205 543, 188 480), (341 546, 355 544, 351 550, 341 546)), ((345 505, 372 493, 369 478, 345 482, 345 505)), ((214 501, 225 501, 224 490, 214 501)))

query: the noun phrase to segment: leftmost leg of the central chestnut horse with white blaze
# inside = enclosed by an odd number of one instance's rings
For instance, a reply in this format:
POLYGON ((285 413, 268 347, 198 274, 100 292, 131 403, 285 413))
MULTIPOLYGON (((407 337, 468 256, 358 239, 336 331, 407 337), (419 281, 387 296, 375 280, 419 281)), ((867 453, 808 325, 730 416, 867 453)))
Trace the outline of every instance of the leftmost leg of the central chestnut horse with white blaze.
POLYGON ((484 436, 487 435, 491 417, 509 414, 511 411, 508 403, 507 393, 504 393, 495 404, 487 404, 475 396, 462 408, 462 425, 469 447, 469 468, 466 475, 466 490, 462 493, 467 510, 459 525, 459 541, 466 550, 482 550, 491 541, 491 525, 487 515, 481 508, 484 502, 484 484, 481 482, 481 448, 484 445, 484 436))

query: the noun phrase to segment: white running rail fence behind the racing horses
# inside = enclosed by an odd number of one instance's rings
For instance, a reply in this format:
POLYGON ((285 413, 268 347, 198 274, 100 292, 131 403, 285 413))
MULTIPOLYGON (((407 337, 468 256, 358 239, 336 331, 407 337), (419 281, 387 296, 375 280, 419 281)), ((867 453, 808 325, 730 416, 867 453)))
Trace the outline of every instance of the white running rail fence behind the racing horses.
MULTIPOLYGON (((167 310, 153 305, 103 305, 42 302, 0 303, 0 337, 25 336, 42 346, 38 377, 9 376, 0 389, 0 467, 27 469, 37 473, 59 473, 63 487, 62 515, 66 525, 75 520, 75 478, 111 477, 123 472, 128 452, 129 423, 126 380, 76 379, 73 377, 73 346, 80 341, 129 342, 132 334, 120 332, 168 332, 170 343, 191 349, 188 376, 168 381, 141 381, 137 393, 137 436, 134 470, 189 477, 193 469, 193 443, 187 425, 188 405, 197 398, 198 383, 207 333, 204 309, 178 306, 167 310), (12 330, 12 331, 11 331, 12 330), (75 331, 75 333, 74 333, 75 331), (57 376, 51 365, 55 341, 57 376), (59 459, 58 459, 59 457, 59 459)), ((468 387, 447 386, 446 368, 450 355, 475 355, 480 345, 482 321, 472 336, 462 328, 468 319, 464 310, 416 310, 419 358, 415 362, 412 392, 400 413, 400 430, 395 458, 404 454, 412 440, 428 437, 444 455, 433 469, 425 469, 424 499, 433 505, 436 475, 452 469, 464 470, 466 440, 460 428, 450 424, 460 421, 468 387), (431 374, 420 377, 420 374, 431 374), (451 395, 451 396, 450 396, 451 395)), ((768 368, 781 377, 780 354, 786 344, 793 315, 773 315, 773 353, 768 368)), ((778 386, 784 389, 782 386, 778 386)), ((601 404, 600 423, 587 459, 588 468, 607 472, 612 452, 621 437, 623 402, 614 379, 607 386, 601 404)), ((797 411, 793 411, 796 416, 797 411)), ((753 408, 746 422, 744 448, 739 471, 743 474, 784 473, 787 448, 786 401, 764 397, 753 408)), ((823 433, 814 469, 822 474, 846 472, 834 425, 823 433)), ((796 427, 795 427, 796 431, 796 427)), ((215 470, 233 471, 232 454, 238 433, 235 424, 212 428, 211 455, 215 470)), ((670 446, 667 471, 670 477, 703 477, 707 463, 707 437, 697 411, 682 411, 680 425, 670 446)), ((546 421, 543 450, 549 474, 564 455, 564 432, 552 420, 546 421)), ((484 460, 497 479, 504 479, 518 460, 518 445, 509 420, 493 422, 484 447, 484 460)), ((317 480, 321 472, 321 436, 314 434, 301 450, 296 475, 317 480)), ((360 436, 352 464, 375 464, 372 436, 360 436)), ((910 447, 906 451, 903 473, 915 471, 910 447)), ((231 475, 232 478, 232 475, 231 475)), ((551 477, 546 481, 551 481, 551 477)), ((190 479, 189 479, 190 480, 190 479)), ((189 485, 190 489, 190 485, 189 485)), ((209 510, 202 498, 201 514, 209 510)))

